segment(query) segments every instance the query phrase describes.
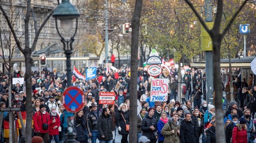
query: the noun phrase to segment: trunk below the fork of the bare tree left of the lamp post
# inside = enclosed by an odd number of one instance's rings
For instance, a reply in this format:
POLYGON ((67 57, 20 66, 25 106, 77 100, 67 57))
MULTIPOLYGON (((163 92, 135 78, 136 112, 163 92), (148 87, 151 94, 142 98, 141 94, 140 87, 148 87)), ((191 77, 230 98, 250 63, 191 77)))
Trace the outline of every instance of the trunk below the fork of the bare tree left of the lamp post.
MULTIPOLYGON (((31 90, 31 63, 32 58, 30 54, 25 55, 26 62, 26 112, 27 112, 27 121, 32 121, 32 90, 31 90)), ((27 122, 26 124, 26 142, 31 142, 32 137, 32 122, 27 122)))

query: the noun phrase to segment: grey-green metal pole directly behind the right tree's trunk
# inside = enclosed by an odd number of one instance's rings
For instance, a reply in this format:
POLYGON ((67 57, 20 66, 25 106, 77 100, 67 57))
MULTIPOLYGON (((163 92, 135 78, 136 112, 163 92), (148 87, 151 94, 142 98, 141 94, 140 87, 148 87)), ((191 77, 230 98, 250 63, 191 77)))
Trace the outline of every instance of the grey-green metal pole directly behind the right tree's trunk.
MULTIPOLYGON (((205 22, 212 22, 212 3, 205 0, 205 22)), ((205 51, 205 69, 206 69, 206 101, 214 103, 214 69, 213 69, 213 52, 205 51)))

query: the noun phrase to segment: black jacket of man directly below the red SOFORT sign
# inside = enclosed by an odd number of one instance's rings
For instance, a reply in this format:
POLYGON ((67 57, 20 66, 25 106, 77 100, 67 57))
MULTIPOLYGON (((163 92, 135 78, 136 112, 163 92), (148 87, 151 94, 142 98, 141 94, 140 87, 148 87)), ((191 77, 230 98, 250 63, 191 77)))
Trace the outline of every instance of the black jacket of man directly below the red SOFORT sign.
POLYGON ((112 117, 102 114, 97 123, 97 129, 99 131, 100 140, 112 140, 112 117), (101 138, 104 135, 105 138, 101 138))

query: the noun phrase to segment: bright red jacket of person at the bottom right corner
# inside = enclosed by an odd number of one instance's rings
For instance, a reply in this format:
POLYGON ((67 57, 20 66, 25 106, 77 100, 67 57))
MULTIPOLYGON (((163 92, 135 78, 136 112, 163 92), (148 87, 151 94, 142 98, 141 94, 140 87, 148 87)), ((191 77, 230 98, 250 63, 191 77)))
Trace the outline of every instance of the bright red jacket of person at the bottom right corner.
POLYGON ((242 129, 239 131, 237 127, 233 128, 232 143, 245 143, 247 142, 247 131, 242 129))

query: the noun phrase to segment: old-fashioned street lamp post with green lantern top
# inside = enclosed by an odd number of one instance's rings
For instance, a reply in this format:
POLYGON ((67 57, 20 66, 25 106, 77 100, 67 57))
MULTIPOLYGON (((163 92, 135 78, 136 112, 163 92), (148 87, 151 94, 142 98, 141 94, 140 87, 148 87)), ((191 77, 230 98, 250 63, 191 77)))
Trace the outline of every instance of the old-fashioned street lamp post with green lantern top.
MULTIPOLYGON (((68 87, 71 86, 71 54, 73 53, 72 43, 75 41, 74 37, 77 32, 78 27, 78 17, 80 17, 80 13, 77 8, 70 3, 69 0, 62 0, 56 9, 54 9, 52 16, 55 18, 56 29, 61 38, 61 42, 63 43, 64 54, 66 55, 66 72, 68 77, 68 87), (74 34, 70 37, 69 40, 65 40, 65 38, 60 34, 58 29, 59 19, 60 24, 62 25, 63 31, 65 34, 69 34, 71 29, 73 28, 73 19, 76 19, 76 28, 74 34)), ((75 140, 76 130, 74 128, 74 119, 71 116, 68 116, 68 132, 66 133, 66 139, 63 139, 64 142, 77 142, 75 140)))

